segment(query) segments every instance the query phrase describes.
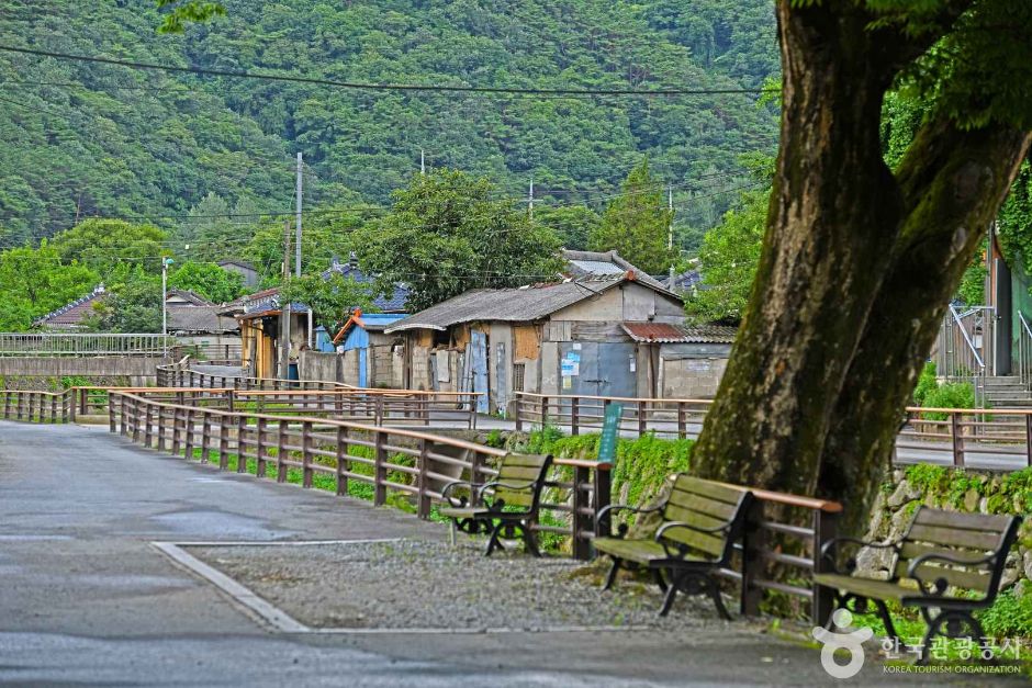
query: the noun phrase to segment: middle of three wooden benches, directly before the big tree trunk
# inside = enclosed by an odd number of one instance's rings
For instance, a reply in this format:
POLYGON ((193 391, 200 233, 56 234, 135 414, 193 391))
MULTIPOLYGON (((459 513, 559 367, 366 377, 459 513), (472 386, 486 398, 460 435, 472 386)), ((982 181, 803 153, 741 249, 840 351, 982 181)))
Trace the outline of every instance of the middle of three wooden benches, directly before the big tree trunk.
POLYGON ((620 525, 616 537, 595 538, 595 550, 613 559, 603 589, 613 586, 621 566, 647 568, 666 593, 660 616, 666 616, 680 590, 686 595, 708 594, 720 616, 730 619, 715 574, 730 565, 752 501, 752 493, 747 489, 681 473, 674 478, 670 496, 659 506, 641 509, 610 505, 602 509, 602 523, 608 522, 610 511, 625 509, 637 514, 659 511, 662 517, 653 538, 627 539, 626 523, 620 525))

